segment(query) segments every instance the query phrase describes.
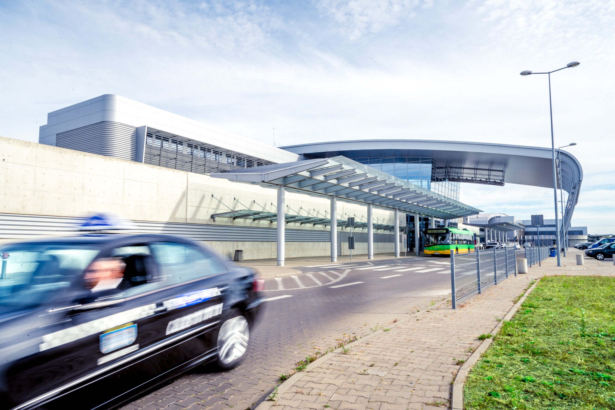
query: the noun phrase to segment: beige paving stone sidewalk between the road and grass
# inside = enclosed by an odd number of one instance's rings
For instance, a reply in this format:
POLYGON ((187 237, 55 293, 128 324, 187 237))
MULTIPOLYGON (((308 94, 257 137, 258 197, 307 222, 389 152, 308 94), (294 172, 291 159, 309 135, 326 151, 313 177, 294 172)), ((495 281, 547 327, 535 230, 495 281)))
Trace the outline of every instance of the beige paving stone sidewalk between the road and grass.
POLYGON ((419 311, 398 327, 355 344, 348 354, 321 363, 276 403, 263 402, 259 410, 448 408, 454 376, 480 344, 477 336, 498 325, 531 280, 556 274, 615 276, 613 261, 585 258, 585 265, 577 266, 577 253, 571 250, 561 267, 556 258, 548 258, 530 273, 510 277, 456 310, 442 304, 419 311))

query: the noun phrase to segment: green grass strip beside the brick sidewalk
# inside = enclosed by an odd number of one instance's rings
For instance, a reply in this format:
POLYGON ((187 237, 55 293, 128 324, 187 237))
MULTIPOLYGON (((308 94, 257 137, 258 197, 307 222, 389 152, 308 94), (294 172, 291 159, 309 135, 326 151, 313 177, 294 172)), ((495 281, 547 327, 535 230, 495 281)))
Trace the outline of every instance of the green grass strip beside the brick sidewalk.
POLYGON ((615 409, 615 277, 544 277, 466 379, 466 409, 615 409))

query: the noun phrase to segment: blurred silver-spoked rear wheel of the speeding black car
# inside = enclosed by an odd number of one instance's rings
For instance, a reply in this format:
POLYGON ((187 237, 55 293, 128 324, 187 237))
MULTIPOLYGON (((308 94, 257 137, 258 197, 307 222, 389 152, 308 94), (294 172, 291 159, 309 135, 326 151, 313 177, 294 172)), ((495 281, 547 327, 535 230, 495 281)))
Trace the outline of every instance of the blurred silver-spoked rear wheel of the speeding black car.
POLYGON ((245 357, 250 344, 250 325, 239 309, 231 309, 218 331, 218 360, 220 369, 229 370, 245 357))

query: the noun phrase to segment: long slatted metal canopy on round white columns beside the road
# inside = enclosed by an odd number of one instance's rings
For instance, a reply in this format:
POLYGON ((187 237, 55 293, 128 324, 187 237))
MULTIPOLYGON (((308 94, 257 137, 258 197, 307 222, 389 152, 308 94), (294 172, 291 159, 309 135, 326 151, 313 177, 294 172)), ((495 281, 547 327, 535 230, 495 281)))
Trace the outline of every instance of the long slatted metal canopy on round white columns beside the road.
MULTIPOLYGON (((462 204, 446 196, 426 190, 411 184, 406 180, 394 177, 386 172, 378 171, 370 166, 349 160, 344 157, 322 158, 296 161, 284 164, 255 166, 253 168, 234 169, 228 172, 211 174, 215 178, 224 178, 252 184, 277 186, 277 216, 276 220, 286 222, 306 222, 308 217, 285 214, 284 191, 295 190, 311 195, 329 196, 331 198, 331 215, 336 215, 336 200, 359 202, 367 204, 367 245, 368 258, 373 258, 373 206, 393 209, 395 257, 399 257, 399 211, 454 219, 480 212, 466 204, 462 204), (293 220, 292 217, 295 217, 293 220)), ((248 217, 258 219, 255 212, 236 213, 232 217, 248 217)), ((225 212, 225 214, 228 214, 225 212)), ((216 215, 220 217, 220 214, 216 215)), ((272 215, 263 215, 272 218, 272 215)), ((331 261, 337 260, 337 220, 330 220, 331 230, 331 261)), ((277 262, 284 265, 284 223, 277 224, 277 262)), ((418 229, 418 223, 415 223, 418 229)), ((415 237, 418 239, 418 232, 415 237)), ((418 249, 418 246, 416 246, 418 249)))

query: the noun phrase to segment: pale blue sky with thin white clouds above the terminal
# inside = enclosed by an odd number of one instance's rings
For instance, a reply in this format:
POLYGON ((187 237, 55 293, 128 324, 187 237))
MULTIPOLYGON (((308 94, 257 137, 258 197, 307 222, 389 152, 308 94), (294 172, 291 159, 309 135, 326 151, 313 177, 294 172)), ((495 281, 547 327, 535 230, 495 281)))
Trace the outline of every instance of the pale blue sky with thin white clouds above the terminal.
MULTIPOLYGON (((556 147, 584 169, 574 226, 615 233, 614 0, 0 2, 0 135, 118 94, 277 146, 437 139, 556 147)), ((554 215, 547 188, 461 201, 554 215)))

